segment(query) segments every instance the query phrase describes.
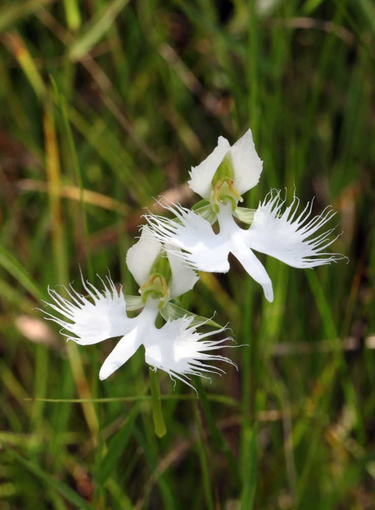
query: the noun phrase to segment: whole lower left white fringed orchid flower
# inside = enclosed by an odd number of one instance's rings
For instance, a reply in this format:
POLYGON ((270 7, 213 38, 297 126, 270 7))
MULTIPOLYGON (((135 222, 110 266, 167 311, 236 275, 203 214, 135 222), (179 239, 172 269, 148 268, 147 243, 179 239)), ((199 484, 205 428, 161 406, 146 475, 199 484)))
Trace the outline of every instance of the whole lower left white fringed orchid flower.
MULTIPOLYGON (((163 246, 152 236, 149 228, 144 226, 140 240, 128 250, 126 257, 128 268, 140 286, 140 304, 144 303, 142 312, 135 318, 127 316, 122 288, 118 293, 109 276, 108 285, 102 281, 103 292, 85 283, 82 278, 91 300, 78 294, 72 286, 71 292, 68 291, 71 301, 48 288, 55 304, 47 304, 64 316, 64 319, 51 314, 47 314, 49 317, 46 319, 66 329, 68 334, 64 335, 68 340, 79 345, 91 345, 107 338, 122 336, 100 369, 101 380, 121 367, 141 344, 145 346, 146 363, 166 371, 171 378, 183 380, 189 386, 187 374, 223 372, 207 365, 207 361, 232 363, 224 356, 204 353, 224 347, 222 344, 227 339, 203 340, 212 333, 198 333, 197 326, 191 325, 194 317, 178 318, 172 322, 168 320, 162 328, 156 328, 155 319, 166 300, 190 290, 198 279, 195 271, 180 258, 169 253, 167 259, 162 254, 163 246)), ((225 329, 221 328, 217 332, 221 333, 225 329)))

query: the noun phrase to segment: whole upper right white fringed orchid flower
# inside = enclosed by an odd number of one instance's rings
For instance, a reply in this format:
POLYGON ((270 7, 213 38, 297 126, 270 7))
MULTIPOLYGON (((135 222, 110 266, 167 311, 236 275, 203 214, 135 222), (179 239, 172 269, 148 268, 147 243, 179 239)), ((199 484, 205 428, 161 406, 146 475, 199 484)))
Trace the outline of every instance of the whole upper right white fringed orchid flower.
MULTIPOLYGON (((229 252, 238 259, 246 271, 264 290, 266 299, 273 301, 272 282, 252 249, 266 253, 292 267, 305 268, 330 264, 343 256, 328 253, 325 249, 334 242, 329 239, 333 228, 316 234, 336 214, 326 208, 310 219, 312 203, 296 217, 299 199, 294 196, 290 206, 282 208, 285 200, 280 191, 271 191, 259 202, 254 219, 248 230, 234 221, 238 216, 238 200, 244 192, 254 187, 262 171, 249 130, 232 147, 225 138, 219 137, 218 146, 199 166, 190 172, 190 187, 209 201, 219 221, 220 232, 215 234, 211 222, 194 211, 166 203, 166 209, 176 214, 178 221, 161 216, 147 215, 157 239, 173 245, 173 253, 195 269, 207 272, 229 270, 229 252), (183 250, 183 251, 181 251, 183 250)), ((208 207, 208 206, 207 206, 208 207)))

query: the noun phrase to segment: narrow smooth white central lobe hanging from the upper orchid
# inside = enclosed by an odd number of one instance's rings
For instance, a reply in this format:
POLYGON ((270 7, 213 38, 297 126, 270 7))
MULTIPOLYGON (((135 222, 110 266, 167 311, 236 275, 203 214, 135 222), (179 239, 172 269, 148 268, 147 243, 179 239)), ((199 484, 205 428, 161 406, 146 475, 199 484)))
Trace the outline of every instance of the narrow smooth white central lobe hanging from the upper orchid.
POLYGON ((272 289, 270 276, 255 254, 246 246, 241 234, 241 232, 236 232, 231 237, 231 252, 244 266, 250 276, 263 287, 265 298, 272 303, 274 300, 274 291, 272 289))

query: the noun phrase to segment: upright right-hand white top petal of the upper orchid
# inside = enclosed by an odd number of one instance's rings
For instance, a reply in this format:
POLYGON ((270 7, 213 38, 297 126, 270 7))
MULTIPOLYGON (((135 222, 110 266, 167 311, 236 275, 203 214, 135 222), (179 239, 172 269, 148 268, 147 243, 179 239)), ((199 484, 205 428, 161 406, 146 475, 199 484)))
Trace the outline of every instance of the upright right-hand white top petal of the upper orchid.
POLYGON ((263 162, 255 150, 250 129, 232 145, 230 151, 234 170, 234 188, 237 193, 243 195, 258 184, 263 168, 263 162))

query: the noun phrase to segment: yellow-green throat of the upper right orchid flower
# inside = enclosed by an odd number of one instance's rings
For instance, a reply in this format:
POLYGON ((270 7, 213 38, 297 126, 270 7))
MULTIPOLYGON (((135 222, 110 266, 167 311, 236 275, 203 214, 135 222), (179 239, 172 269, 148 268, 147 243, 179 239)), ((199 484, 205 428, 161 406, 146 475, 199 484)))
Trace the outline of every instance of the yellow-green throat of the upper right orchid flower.
POLYGON ((233 179, 234 171, 232 156, 230 152, 227 152, 212 179, 212 190, 210 193, 209 203, 213 212, 219 213, 220 203, 226 205, 229 202, 231 203, 232 211, 234 212, 237 207, 238 200, 240 202, 244 200, 235 190, 233 186, 233 179))

